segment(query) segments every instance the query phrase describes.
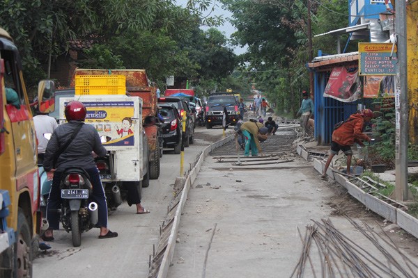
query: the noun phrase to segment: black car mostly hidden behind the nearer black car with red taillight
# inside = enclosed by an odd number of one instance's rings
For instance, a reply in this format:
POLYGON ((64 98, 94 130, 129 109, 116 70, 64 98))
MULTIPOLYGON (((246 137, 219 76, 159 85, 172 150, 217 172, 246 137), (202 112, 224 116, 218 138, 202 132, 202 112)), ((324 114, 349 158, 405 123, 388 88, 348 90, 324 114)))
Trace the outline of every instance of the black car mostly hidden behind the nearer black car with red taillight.
POLYGON ((189 144, 193 144, 195 125, 194 115, 192 113, 196 113, 196 111, 191 111, 187 101, 178 97, 161 97, 158 99, 158 105, 160 104, 173 104, 176 106, 180 113, 180 118, 183 117, 183 114, 186 115, 186 132, 183 132, 183 144, 185 147, 189 147, 189 144))

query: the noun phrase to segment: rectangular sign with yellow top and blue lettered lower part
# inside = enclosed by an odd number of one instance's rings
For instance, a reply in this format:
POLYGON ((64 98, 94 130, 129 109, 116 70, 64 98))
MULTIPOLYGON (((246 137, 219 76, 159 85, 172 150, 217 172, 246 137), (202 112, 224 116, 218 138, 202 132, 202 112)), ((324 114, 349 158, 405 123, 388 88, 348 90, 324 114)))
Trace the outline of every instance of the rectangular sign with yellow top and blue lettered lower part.
POLYGON ((359 42, 359 75, 395 75, 396 50, 396 44, 359 42))

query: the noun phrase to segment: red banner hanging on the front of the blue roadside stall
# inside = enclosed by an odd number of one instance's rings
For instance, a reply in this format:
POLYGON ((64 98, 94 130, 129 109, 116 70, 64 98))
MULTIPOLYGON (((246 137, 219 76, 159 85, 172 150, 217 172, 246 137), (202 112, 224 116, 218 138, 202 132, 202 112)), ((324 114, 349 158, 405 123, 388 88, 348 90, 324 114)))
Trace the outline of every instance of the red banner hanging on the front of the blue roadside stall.
POLYGON ((348 72, 346 67, 334 67, 325 87, 324 97, 343 102, 353 102, 361 97, 358 71, 348 72))

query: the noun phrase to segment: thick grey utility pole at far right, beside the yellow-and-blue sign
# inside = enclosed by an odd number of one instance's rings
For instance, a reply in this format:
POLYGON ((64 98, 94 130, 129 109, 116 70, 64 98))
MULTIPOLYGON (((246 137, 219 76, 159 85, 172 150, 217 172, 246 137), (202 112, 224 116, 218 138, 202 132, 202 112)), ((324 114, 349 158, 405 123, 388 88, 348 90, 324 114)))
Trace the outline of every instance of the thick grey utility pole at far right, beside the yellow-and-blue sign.
POLYGON ((396 113, 396 181, 397 201, 408 200, 408 76, 406 47, 406 2, 396 1, 395 33, 398 43, 398 76, 395 88, 396 113))

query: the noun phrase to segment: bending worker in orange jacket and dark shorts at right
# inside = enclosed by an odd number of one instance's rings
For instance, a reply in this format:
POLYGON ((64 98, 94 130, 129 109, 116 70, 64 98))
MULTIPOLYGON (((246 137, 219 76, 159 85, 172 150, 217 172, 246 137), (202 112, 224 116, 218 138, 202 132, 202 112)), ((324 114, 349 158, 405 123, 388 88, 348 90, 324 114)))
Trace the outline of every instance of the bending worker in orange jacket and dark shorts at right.
POLYGON ((327 163, 325 163, 321 179, 327 178, 326 174, 332 158, 338 154, 340 150, 347 156, 347 174, 350 174, 351 156, 353 156, 350 145, 357 142, 359 145, 364 146, 362 141, 370 142, 369 136, 362 133, 362 130, 364 123, 370 122, 372 118, 373 111, 370 109, 363 109, 359 111, 359 113, 356 112, 353 115, 350 115, 348 120, 334 130, 332 133, 331 153, 330 156, 328 156, 327 163))

